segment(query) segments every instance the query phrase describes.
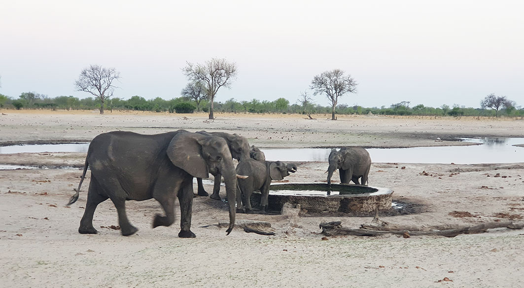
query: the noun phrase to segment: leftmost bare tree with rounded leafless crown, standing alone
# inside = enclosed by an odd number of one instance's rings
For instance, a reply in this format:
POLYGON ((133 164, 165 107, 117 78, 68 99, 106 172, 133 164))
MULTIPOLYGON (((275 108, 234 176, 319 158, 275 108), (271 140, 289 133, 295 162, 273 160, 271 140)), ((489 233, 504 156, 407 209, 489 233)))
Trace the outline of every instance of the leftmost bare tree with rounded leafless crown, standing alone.
POLYGON ((91 65, 80 72, 80 77, 74 82, 77 91, 91 93, 100 99, 100 114, 104 114, 105 100, 113 96, 114 80, 120 79, 120 72, 115 68, 104 68, 100 65, 91 65))

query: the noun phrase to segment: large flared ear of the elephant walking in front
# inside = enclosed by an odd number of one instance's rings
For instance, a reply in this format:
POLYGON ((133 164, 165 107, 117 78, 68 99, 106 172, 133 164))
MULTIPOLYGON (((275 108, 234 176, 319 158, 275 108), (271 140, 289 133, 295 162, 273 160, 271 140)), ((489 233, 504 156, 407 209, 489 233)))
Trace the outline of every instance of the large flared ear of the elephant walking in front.
POLYGON ((179 133, 167 147, 167 155, 174 166, 183 169, 196 178, 208 178, 208 165, 202 157, 205 136, 198 133, 179 133))

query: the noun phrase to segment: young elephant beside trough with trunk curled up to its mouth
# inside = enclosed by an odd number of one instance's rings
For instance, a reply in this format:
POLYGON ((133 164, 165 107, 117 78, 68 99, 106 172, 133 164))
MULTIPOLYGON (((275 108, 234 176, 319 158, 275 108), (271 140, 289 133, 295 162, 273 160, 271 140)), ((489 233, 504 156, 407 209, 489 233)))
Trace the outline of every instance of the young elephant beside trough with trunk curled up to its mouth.
POLYGON ((268 204, 269 185, 271 180, 282 180, 289 175, 289 172, 297 172, 297 165, 287 164, 280 161, 257 161, 249 159, 238 163, 236 173, 238 175, 248 176, 245 179, 238 179, 236 200, 237 212, 252 213, 251 194, 253 191, 260 190, 262 198, 260 199, 260 211, 265 212, 268 204), (242 207, 241 209, 241 203, 242 207))

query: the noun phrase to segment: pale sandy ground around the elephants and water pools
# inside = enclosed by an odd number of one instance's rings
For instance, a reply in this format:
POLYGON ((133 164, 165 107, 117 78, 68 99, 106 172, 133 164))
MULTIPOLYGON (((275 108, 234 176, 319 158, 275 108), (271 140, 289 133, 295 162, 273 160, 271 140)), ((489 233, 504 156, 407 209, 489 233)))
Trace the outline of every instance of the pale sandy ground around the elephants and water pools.
MULTIPOLYGON (((464 144, 445 141, 446 136, 524 137, 524 122, 519 119, 340 116, 330 121, 329 115, 306 120, 301 115, 217 114, 209 122, 206 114, 1 112, 7 115, 0 115, 0 145, 90 141, 106 131, 154 134, 181 128, 239 133, 260 147, 411 147, 464 144), (444 141, 435 141, 437 137, 444 141)), ((0 154, 0 164, 80 167, 84 157, 0 154)), ((519 220, 524 217, 524 160, 516 161, 520 163, 373 163, 369 183, 395 190, 395 201, 419 209, 383 217, 389 222, 452 227, 519 220), (506 177, 494 177, 497 173, 506 177), (454 211, 469 212, 471 217, 455 217, 454 211)), ((326 162, 297 164, 298 172, 286 180, 325 180, 326 162)), ((240 220, 269 221, 276 235, 234 229, 226 236, 225 228, 215 226, 227 219, 225 204, 197 197, 194 239, 178 238, 178 225, 152 229, 152 217, 161 212, 155 200, 127 202, 128 217, 139 228, 132 237, 106 228, 117 225, 110 201, 96 209, 99 234, 79 234, 87 181, 80 199, 71 207, 64 204, 80 176, 78 168, 0 170, 0 286, 518 287, 524 281, 524 230, 495 229, 455 238, 322 240, 322 221, 357 228, 371 219, 237 214, 240 220), (212 226, 202 227, 208 225, 212 226)), ((334 178, 338 180, 338 175, 334 178)))

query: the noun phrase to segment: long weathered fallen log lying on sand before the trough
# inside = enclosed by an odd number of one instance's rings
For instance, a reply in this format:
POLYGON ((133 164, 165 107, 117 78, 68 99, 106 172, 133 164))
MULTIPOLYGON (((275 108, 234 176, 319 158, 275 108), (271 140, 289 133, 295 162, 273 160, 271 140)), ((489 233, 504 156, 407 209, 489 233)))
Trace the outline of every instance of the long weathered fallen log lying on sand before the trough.
MULTIPOLYGON (((353 235, 353 236, 379 236, 383 234, 398 234, 402 235, 404 238, 410 236, 423 236, 423 235, 434 235, 434 236, 444 236, 444 237, 455 237, 459 234, 473 234, 473 233, 483 233, 488 229, 493 228, 509 228, 509 229, 522 229, 524 228, 524 221, 513 222, 513 221, 490 221, 486 223, 481 223, 474 226, 461 226, 454 229, 446 230, 431 230, 431 231, 413 231, 408 229, 401 229, 402 226, 397 225, 398 230, 370 230, 370 229, 350 229, 342 227, 342 222, 322 222, 320 223, 320 228, 322 229, 322 234, 326 236, 342 236, 342 235, 353 235)), ((410 227, 412 228, 412 227, 410 227)))

